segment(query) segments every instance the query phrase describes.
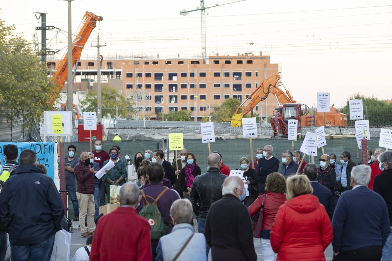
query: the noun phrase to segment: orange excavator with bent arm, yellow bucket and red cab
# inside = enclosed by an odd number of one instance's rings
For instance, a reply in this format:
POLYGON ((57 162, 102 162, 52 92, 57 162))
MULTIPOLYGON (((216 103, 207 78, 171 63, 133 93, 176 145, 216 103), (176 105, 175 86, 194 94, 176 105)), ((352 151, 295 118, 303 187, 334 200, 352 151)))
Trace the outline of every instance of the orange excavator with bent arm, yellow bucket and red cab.
MULTIPOLYGON (((297 103, 290 95, 289 90, 283 92, 283 90, 276 86, 279 79, 279 75, 274 75, 261 81, 256 90, 238 106, 231 119, 231 126, 240 127, 243 116, 249 113, 260 101, 267 99, 269 94, 275 95, 279 103, 279 107, 275 108, 276 112, 270 121, 274 131, 274 137, 279 134, 287 135, 287 125, 290 119, 298 120, 298 130, 301 130, 301 126, 310 126, 312 121, 314 122, 314 126, 323 126, 323 113, 317 112, 315 115, 308 115, 309 107, 306 104, 297 103), (244 106, 245 103, 247 103, 246 106, 244 106), (242 112, 238 113, 240 110, 242 112)), ((330 111, 325 113, 324 121, 325 126, 347 126, 347 115, 331 107, 330 111)))

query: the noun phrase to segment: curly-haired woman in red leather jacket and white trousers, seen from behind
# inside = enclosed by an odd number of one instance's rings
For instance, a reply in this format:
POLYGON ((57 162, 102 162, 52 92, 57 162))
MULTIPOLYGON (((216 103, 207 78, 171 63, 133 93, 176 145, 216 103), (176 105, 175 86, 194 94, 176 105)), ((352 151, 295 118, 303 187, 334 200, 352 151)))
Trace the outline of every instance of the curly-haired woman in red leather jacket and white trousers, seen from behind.
MULTIPOLYGON (((286 180, 283 175, 279 172, 271 173, 265 180, 265 200, 264 200, 264 211, 263 211, 263 227, 261 228, 261 254, 263 254, 264 261, 274 261, 275 254, 272 250, 270 242, 270 231, 272 223, 278 212, 279 207, 285 203, 286 200, 286 180)), ((263 202, 263 194, 260 194, 258 198, 248 207, 250 216, 254 216, 260 211, 261 204, 263 202)))

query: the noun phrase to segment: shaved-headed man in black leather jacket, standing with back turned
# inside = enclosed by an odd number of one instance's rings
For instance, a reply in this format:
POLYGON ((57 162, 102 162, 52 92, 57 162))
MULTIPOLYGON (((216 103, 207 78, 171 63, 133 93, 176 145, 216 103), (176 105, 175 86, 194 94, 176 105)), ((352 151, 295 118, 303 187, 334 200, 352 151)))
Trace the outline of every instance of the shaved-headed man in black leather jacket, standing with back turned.
MULTIPOLYGON (((192 202, 193 212, 198 217, 198 231, 204 233, 205 221, 211 204, 220 200, 222 196, 222 185, 226 175, 219 170, 222 167, 222 157, 218 153, 208 156, 209 169, 206 173, 198 175, 192 184, 189 200, 192 202)), ((207 256, 210 247, 207 245, 207 256)))

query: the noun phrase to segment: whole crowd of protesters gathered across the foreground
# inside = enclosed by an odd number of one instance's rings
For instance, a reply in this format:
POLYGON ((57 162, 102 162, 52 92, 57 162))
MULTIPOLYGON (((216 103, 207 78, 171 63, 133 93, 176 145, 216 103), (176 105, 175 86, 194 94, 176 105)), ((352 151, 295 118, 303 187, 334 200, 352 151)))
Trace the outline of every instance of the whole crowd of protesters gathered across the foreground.
MULTIPOLYGON (((203 156, 185 148, 172 162, 160 149, 136 152, 132 164, 118 146, 107 153, 95 140, 94 148, 77 158, 70 145, 64 159, 74 221, 87 238, 74 261, 207 260, 210 250, 218 261, 257 260, 258 254, 264 261, 326 260, 331 243, 332 260, 392 259, 392 151, 370 150, 358 165, 349 151, 323 154, 317 166, 298 150, 277 158, 266 145, 256 149, 254 162, 239 157, 241 179, 229 176, 218 151, 201 169, 196 157, 203 156), (114 167, 96 178, 109 161, 114 167), (121 186, 121 205, 100 216, 110 185, 121 186)), ((12 260, 50 260, 64 217, 60 195, 34 151, 18 155, 10 144, 4 155, 0 261, 7 234, 12 260)))

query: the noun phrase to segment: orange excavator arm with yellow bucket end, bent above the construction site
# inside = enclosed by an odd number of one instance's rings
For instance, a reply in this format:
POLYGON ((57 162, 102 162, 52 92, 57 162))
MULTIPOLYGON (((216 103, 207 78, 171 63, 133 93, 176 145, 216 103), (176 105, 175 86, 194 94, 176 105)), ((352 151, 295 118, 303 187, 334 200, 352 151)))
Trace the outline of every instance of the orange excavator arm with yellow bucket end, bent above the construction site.
POLYGON ((278 101, 281 104, 296 103, 296 101, 290 95, 289 90, 283 92, 283 90, 276 86, 279 79, 279 75, 274 75, 269 77, 268 79, 264 79, 263 81, 261 81, 260 85, 248 96, 248 98, 240 106, 238 106, 236 112, 231 119, 231 126, 240 127, 242 124, 243 116, 250 112, 258 103, 260 103, 260 101, 264 101, 265 99, 267 99, 270 93, 276 95, 278 101), (243 106, 246 103, 247 105, 243 106), (242 110, 242 113, 238 113, 240 110, 242 110))

